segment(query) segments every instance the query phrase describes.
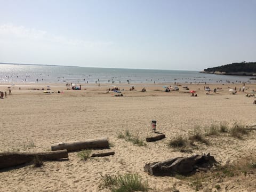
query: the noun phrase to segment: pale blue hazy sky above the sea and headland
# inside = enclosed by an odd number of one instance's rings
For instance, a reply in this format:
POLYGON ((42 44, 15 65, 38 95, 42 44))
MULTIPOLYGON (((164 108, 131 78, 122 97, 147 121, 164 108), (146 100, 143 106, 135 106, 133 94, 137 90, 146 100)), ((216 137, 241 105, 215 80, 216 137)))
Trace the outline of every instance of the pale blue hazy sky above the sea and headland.
POLYGON ((256 61, 256 0, 0 5, 0 62, 203 70, 256 61))

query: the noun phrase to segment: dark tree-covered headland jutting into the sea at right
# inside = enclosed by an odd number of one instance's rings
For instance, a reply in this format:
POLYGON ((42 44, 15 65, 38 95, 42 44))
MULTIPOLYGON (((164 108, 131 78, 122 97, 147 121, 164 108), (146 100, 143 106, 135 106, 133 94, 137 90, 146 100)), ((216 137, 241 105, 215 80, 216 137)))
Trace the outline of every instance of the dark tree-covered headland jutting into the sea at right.
POLYGON ((223 65, 219 67, 211 67, 204 69, 206 72, 225 72, 225 73, 237 73, 237 72, 247 72, 247 73, 256 73, 256 62, 240 62, 232 63, 228 65, 223 65))

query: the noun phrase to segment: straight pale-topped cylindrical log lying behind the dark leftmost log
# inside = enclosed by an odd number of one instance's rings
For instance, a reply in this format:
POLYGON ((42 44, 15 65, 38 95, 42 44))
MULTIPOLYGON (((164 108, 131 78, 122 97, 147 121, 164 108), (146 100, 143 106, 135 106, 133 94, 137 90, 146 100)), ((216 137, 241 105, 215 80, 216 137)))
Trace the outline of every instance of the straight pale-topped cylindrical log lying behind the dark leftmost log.
POLYGON ((52 144, 52 151, 67 149, 68 151, 82 150, 82 149, 97 149, 108 148, 109 143, 107 138, 88 139, 85 141, 70 141, 52 144))

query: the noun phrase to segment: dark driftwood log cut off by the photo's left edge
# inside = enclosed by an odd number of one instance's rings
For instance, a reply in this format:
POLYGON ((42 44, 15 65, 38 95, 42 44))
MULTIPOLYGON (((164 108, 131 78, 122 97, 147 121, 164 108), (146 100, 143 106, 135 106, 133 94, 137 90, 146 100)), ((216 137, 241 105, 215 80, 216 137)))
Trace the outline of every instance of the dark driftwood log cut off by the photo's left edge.
POLYGON ((68 151, 59 150, 45 153, 0 153, 0 169, 29 163, 33 161, 36 156, 42 160, 68 158, 68 151))

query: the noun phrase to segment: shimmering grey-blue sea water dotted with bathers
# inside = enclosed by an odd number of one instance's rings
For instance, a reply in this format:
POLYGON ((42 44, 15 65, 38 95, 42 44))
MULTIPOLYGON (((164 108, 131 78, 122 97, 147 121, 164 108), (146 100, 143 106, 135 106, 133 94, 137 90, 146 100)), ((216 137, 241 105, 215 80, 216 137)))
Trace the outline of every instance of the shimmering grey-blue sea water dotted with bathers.
POLYGON ((0 64, 0 83, 216 83, 255 82, 251 76, 202 74, 199 71, 117 69, 0 64))

